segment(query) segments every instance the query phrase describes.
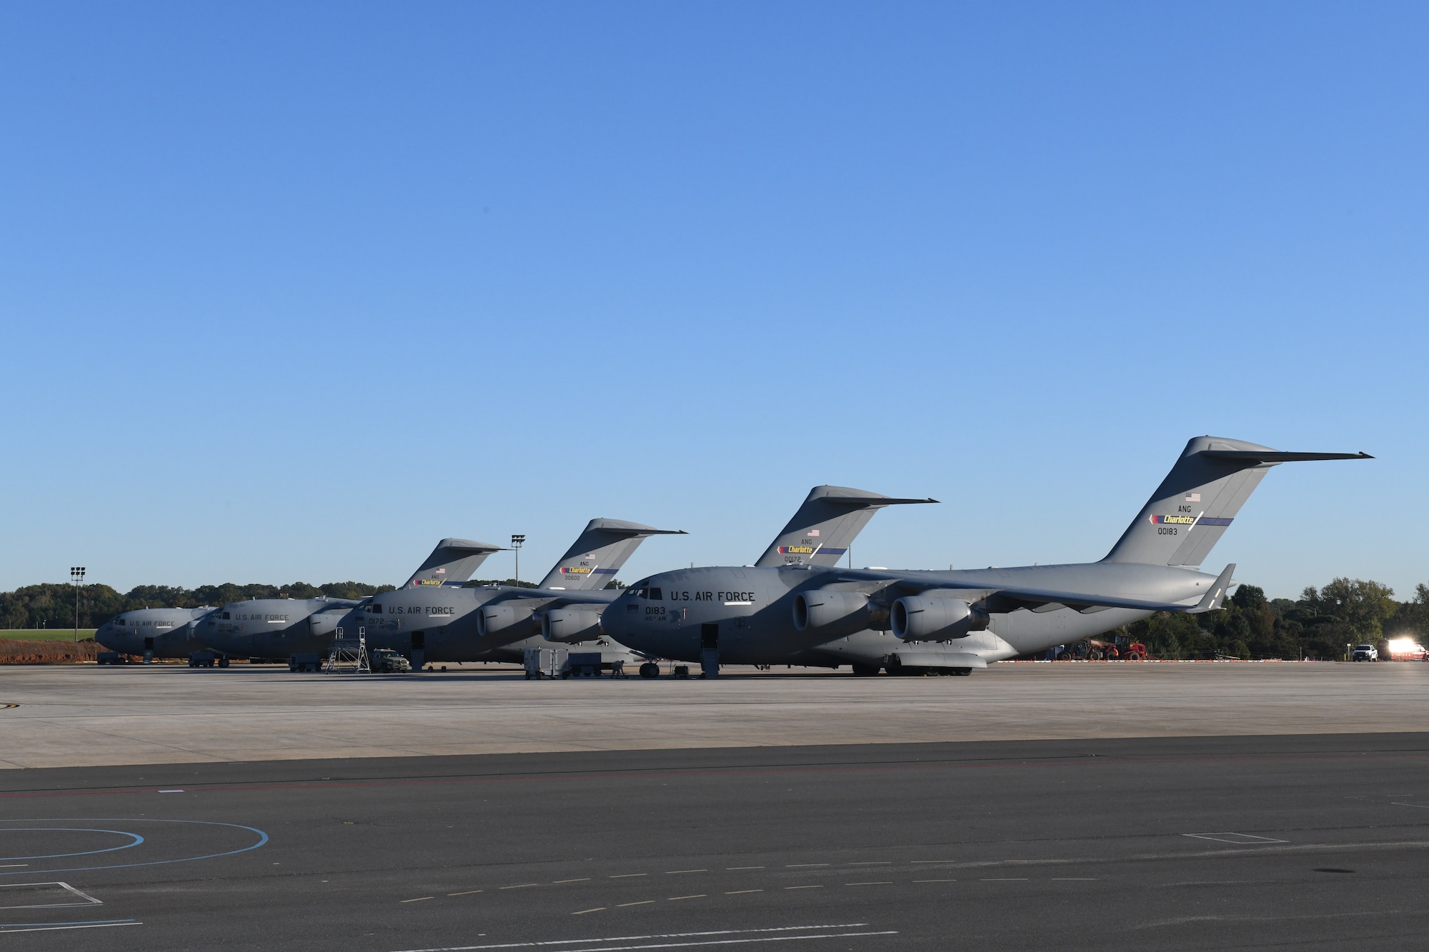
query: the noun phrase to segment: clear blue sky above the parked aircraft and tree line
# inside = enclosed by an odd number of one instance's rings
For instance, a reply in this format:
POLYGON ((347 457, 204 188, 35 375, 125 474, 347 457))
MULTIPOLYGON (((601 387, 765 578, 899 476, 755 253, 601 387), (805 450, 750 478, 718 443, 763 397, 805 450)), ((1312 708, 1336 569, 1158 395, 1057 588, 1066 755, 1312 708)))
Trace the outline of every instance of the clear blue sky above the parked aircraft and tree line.
MULTIPOLYGON (((0 589, 400 582, 593 516, 622 577, 1102 557, 1429 580, 1429 7, 0 7, 0 589)), ((509 575, 493 556, 480 575, 509 575)))

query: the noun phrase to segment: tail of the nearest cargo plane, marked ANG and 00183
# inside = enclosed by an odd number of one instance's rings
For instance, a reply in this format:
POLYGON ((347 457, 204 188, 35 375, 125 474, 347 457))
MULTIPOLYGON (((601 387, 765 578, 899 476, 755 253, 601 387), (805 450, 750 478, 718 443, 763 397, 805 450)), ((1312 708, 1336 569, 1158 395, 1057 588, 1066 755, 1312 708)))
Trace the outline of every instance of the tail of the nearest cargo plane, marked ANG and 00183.
POLYGON ((1282 453, 1268 446, 1198 436, 1152 493, 1103 562, 1199 566, 1272 466, 1368 453, 1282 453))

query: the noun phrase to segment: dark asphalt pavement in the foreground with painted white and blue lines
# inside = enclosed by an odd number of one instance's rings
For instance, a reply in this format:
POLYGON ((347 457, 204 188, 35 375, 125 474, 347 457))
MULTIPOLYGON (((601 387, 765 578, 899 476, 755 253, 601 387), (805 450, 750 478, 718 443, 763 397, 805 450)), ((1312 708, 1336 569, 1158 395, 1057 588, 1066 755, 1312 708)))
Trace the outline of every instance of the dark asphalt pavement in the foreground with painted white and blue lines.
POLYGON ((0 949, 1388 949, 1429 735, 9 770, 0 843, 0 949))

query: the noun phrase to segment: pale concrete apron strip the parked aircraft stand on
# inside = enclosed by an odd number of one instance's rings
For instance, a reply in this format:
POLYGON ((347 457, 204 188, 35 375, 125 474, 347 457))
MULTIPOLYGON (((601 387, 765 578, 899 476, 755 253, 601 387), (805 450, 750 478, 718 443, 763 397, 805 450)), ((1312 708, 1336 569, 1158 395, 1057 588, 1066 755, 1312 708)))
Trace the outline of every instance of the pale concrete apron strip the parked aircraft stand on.
POLYGON ((1429 665, 993 665, 970 678, 727 669, 0 666, 0 769, 946 740, 1429 730, 1429 665), (6 703, 19 705, 4 709, 6 703))

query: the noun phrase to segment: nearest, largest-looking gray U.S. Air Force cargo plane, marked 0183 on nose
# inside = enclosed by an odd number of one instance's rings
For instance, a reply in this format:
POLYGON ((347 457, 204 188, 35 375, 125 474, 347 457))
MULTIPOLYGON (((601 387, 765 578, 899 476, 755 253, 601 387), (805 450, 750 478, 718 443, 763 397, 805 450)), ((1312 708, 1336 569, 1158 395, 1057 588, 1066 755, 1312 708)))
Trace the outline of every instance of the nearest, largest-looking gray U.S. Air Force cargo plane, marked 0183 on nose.
POLYGON ((959 572, 682 569, 626 589, 602 615, 602 630, 650 658, 699 660, 707 676, 722 663, 967 675, 1155 612, 1219 608, 1235 565, 1219 575, 1199 566, 1252 490, 1272 466, 1328 459, 1372 457, 1198 436, 1100 562, 959 572))

